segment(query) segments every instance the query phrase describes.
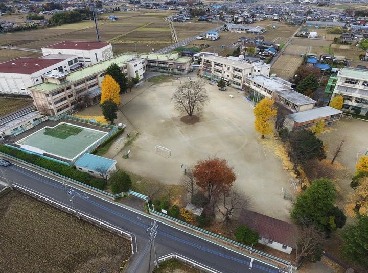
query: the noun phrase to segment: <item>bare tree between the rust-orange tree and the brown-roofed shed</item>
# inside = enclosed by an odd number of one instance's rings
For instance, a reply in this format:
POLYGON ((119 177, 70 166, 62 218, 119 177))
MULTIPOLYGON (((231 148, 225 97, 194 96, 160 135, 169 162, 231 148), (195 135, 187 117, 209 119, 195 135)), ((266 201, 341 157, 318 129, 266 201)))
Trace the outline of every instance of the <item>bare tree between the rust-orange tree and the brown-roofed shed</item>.
POLYGON ((217 210, 222 214, 224 219, 222 222, 226 225, 237 217, 239 210, 248 208, 251 202, 249 196, 236 189, 231 189, 228 193, 222 194, 221 199, 222 204, 221 206, 217 205, 217 210))

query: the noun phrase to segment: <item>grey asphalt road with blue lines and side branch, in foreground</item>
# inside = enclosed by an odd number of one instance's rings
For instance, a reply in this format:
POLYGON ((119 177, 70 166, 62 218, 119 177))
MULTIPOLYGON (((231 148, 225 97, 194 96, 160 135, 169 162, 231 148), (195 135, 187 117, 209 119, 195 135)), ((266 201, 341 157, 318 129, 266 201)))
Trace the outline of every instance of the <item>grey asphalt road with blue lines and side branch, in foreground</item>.
MULTIPOLYGON (((28 188, 72 207, 62 183, 15 164, 1 168, 4 170, 4 176, 11 183, 28 188)), ((75 190, 75 197, 73 198, 78 211, 109 222, 136 235, 139 252, 135 253, 130 259, 128 272, 148 272, 149 248, 147 244, 148 233, 146 231, 153 222, 152 218, 147 214, 132 211, 129 208, 87 192, 82 196, 78 194, 79 192, 82 192, 82 190, 75 190)), ((158 225, 159 228, 155 240, 157 256, 176 252, 224 273, 248 271, 279 272, 278 268, 258 260, 252 260, 252 265, 250 266, 250 257, 166 225, 163 222, 159 222, 158 225)), ((152 257, 154 257, 153 253, 152 257)))

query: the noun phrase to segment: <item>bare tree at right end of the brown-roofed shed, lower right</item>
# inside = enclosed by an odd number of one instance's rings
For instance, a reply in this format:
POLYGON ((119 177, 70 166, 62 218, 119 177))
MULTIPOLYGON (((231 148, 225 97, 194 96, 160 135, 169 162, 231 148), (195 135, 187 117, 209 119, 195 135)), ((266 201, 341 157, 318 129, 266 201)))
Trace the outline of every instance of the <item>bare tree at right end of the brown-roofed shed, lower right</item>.
POLYGON ((302 258, 309 260, 318 260, 322 253, 322 244, 325 236, 314 225, 308 225, 306 222, 298 230, 295 260, 298 262, 302 258))

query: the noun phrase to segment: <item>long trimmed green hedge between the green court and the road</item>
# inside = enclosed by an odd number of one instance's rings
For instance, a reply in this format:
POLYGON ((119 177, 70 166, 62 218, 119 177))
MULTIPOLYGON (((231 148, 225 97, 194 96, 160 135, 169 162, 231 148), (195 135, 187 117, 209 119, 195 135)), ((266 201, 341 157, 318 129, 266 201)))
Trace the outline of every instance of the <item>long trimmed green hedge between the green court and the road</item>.
POLYGON ((4 145, 0 145, 0 151, 10 156, 32 163, 34 165, 40 166, 42 168, 59 173, 62 176, 95 187, 97 189, 104 190, 106 187, 105 180, 91 176, 87 172, 78 171, 75 168, 71 168, 70 166, 67 166, 65 164, 58 163, 50 159, 45 159, 43 157, 34 154, 29 154, 4 145))

